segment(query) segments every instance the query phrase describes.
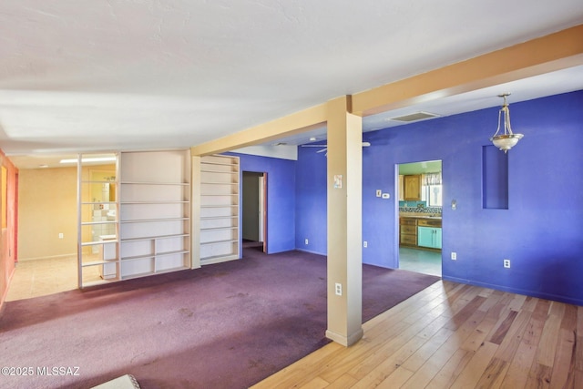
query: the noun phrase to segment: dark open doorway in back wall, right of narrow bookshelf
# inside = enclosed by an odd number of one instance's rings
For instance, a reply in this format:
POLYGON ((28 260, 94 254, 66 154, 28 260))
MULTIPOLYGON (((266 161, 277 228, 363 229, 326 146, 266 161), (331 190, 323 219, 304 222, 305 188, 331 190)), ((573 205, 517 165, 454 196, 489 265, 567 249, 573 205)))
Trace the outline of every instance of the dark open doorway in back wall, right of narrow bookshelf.
POLYGON ((243 171, 243 248, 267 252, 267 173, 243 171))

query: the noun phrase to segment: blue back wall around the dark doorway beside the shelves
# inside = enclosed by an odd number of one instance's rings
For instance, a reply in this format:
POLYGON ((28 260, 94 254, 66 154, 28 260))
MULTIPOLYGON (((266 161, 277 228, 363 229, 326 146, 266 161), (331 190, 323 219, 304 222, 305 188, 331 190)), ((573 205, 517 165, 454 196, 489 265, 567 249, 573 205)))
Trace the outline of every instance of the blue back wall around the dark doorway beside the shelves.
POLYGON ((267 173, 267 252, 294 250, 295 161, 240 153, 227 154, 240 158, 240 182, 243 171, 267 173))

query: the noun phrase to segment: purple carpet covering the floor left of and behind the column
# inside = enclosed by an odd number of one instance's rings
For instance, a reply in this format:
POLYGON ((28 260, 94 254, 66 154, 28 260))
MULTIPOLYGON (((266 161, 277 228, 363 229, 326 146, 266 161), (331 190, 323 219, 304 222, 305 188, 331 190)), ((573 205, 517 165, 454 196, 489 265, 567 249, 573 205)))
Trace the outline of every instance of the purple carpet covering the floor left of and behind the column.
MULTIPOLYGON (((363 322, 437 280, 363 265, 363 322)), ((0 367, 19 376, 0 388, 123 374, 145 389, 246 388, 328 343, 325 330, 326 257, 248 249, 241 261, 6 302, 0 367)))

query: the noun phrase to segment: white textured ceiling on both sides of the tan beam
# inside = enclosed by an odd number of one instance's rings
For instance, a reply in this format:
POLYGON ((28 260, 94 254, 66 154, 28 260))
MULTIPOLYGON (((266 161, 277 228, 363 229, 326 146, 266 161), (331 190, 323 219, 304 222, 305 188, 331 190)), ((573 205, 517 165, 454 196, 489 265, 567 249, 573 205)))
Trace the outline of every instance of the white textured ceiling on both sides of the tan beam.
MULTIPOLYGON (((581 23, 580 0, 3 0, 0 148, 26 169, 77 152, 195 146, 581 23)), ((506 91, 512 104, 578 89, 583 67, 363 127, 494 107, 506 91)))

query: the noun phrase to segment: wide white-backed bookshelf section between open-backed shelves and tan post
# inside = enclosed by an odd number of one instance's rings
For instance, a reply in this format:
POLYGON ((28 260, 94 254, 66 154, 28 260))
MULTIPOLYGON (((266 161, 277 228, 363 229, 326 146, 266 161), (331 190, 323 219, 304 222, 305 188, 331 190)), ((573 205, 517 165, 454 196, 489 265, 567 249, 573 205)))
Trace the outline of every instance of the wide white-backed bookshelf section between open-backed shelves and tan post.
POLYGON ((189 150, 122 152, 122 280, 190 268, 189 150))

